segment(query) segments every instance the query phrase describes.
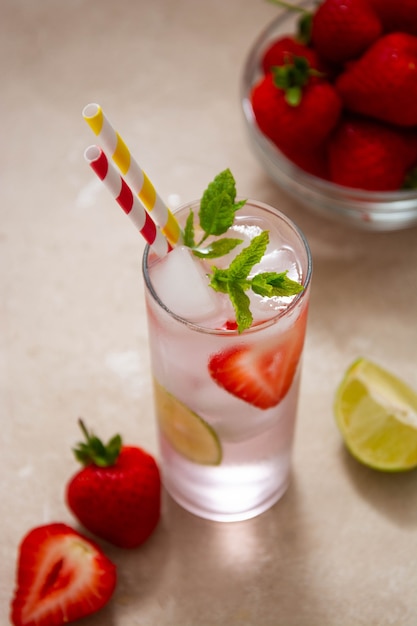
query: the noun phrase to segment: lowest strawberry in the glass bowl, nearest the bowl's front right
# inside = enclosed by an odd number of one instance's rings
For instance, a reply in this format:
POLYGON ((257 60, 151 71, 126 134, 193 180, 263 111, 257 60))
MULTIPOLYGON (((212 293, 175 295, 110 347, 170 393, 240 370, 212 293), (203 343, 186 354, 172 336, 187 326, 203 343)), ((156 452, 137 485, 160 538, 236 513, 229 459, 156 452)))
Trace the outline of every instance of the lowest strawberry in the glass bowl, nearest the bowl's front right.
POLYGON ((394 191, 417 161, 417 134, 365 118, 347 117, 329 141, 333 182, 368 191, 394 191))

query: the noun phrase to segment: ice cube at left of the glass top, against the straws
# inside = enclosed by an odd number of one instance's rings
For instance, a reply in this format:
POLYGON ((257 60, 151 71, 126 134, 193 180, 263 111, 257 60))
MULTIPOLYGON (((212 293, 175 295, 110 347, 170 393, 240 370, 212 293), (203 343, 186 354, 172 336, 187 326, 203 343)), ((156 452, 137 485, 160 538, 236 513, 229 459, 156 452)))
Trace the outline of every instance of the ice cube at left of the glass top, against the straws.
POLYGON ((151 280, 168 309, 191 322, 209 319, 220 306, 203 267, 185 246, 177 246, 157 263, 151 280))

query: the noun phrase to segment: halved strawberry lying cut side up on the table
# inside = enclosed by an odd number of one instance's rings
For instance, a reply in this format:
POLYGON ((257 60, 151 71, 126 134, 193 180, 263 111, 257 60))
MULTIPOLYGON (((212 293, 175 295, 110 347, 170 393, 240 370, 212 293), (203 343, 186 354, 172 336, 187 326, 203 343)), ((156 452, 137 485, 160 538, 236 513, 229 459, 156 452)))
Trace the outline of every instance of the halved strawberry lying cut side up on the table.
POLYGON ((65 524, 32 529, 20 545, 14 626, 61 626, 95 613, 111 598, 116 567, 65 524))

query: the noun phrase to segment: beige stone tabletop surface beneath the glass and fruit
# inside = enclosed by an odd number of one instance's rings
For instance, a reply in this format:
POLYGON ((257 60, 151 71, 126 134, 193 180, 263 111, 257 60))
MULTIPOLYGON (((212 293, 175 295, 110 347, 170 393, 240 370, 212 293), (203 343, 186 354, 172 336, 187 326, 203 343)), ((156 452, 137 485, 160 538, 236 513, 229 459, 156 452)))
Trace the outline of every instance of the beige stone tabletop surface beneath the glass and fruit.
POLYGON ((417 387, 417 230, 305 211, 252 156, 239 108, 263 0, 0 1, 0 623, 33 526, 64 502, 77 418, 157 454, 140 237, 83 160, 99 102, 175 207, 225 167, 305 232, 314 282, 291 487, 257 519, 161 523, 85 626, 415 626, 417 474, 345 452, 332 402, 359 355, 417 387))

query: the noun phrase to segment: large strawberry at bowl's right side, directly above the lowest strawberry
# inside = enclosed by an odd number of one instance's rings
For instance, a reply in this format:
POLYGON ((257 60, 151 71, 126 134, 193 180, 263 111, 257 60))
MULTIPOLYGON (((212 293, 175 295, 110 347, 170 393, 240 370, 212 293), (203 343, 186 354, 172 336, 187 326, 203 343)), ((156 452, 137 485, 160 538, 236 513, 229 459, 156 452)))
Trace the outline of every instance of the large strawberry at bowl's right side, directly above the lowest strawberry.
POLYGON ((344 106, 399 126, 417 125, 417 37, 391 33, 336 80, 344 106))

